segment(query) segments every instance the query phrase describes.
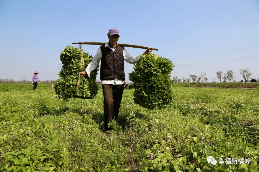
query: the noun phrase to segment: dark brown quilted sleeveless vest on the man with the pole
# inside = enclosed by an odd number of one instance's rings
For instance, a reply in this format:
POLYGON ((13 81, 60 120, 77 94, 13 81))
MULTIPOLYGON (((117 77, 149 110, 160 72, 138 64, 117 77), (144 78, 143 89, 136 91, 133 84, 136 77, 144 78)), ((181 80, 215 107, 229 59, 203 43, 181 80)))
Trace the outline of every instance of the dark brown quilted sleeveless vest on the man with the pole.
POLYGON ((123 46, 117 46, 113 52, 109 47, 100 46, 102 51, 100 79, 114 80, 115 77, 121 81, 125 80, 123 46), (114 77, 115 76, 115 77, 114 77))

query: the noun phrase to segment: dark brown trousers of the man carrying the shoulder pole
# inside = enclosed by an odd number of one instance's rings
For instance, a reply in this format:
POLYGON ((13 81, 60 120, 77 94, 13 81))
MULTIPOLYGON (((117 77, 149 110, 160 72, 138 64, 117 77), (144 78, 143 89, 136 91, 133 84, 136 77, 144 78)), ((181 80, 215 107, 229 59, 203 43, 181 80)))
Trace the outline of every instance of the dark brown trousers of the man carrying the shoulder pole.
POLYGON ((102 88, 104 97, 104 126, 108 129, 108 123, 112 119, 118 119, 124 85, 102 84, 102 88))

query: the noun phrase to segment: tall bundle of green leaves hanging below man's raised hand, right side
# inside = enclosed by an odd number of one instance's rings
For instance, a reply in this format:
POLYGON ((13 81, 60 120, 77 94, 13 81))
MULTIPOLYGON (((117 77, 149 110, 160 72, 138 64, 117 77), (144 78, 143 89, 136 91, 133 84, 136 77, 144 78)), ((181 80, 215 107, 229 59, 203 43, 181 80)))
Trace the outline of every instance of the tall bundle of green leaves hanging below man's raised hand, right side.
POLYGON ((129 73, 134 82, 134 102, 148 109, 165 109, 171 106, 175 97, 170 73, 173 64, 157 54, 142 55, 129 73))

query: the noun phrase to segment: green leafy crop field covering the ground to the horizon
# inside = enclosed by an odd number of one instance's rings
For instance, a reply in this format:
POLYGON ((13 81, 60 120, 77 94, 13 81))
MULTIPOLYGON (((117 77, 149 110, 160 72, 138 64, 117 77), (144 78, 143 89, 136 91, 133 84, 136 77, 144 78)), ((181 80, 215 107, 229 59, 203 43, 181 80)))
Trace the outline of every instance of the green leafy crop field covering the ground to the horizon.
POLYGON ((101 88, 62 102, 51 85, 0 84, 0 171, 259 171, 258 89, 173 86, 166 110, 136 105, 124 90, 107 135, 101 88))

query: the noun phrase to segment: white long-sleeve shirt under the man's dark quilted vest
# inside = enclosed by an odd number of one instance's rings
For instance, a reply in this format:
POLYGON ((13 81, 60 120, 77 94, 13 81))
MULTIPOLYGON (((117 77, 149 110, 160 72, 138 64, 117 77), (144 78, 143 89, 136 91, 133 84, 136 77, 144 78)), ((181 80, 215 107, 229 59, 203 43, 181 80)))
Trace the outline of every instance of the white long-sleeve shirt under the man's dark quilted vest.
MULTIPOLYGON (((115 51, 115 48, 112 48, 109 46, 109 42, 107 42, 105 47, 109 47, 113 52, 115 51)), ((123 58, 127 63, 134 64, 137 63, 139 58, 141 57, 142 53, 139 56, 133 57, 125 48, 123 49, 123 58)), ((90 73, 96 69, 98 66, 98 63, 102 59, 102 51, 100 47, 97 50, 97 53, 93 57, 92 61, 88 64, 87 68, 85 69, 85 72, 90 77, 90 73)), ((101 84, 113 84, 113 85, 122 85, 125 81, 121 81, 118 78, 115 77, 114 80, 104 80, 101 81, 101 84)))

